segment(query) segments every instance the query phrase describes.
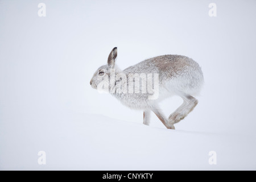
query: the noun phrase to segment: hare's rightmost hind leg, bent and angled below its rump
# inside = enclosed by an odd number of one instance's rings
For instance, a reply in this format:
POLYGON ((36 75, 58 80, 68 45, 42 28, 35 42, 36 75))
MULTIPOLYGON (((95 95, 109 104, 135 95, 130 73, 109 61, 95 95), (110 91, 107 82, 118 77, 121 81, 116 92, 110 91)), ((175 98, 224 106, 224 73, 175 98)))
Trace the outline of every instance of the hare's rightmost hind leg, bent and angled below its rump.
POLYGON ((188 113, 190 113, 196 107, 198 103, 195 97, 192 97, 188 94, 183 94, 180 97, 183 98, 183 104, 181 104, 181 106, 178 107, 178 109, 176 109, 174 113, 172 113, 168 118, 169 123, 172 125, 179 122, 181 119, 184 119, 188 113))

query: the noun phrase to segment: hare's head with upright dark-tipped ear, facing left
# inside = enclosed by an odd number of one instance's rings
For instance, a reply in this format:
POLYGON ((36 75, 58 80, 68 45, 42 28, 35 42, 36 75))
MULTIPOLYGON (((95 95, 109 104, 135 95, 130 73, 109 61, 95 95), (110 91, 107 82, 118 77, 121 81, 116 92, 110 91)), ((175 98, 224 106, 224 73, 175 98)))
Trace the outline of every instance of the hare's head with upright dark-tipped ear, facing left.
MULTIPOLYGON (((115 68, 115 58, 117 57, 117 47, 113 48, 108 57, 108 64, 101 66, 94 73, 90 80, 90 85, 98 89, 102 84, 109 84, 110 71, 115 68)), ((106 89, 106 88, 105 88, 106 89)))

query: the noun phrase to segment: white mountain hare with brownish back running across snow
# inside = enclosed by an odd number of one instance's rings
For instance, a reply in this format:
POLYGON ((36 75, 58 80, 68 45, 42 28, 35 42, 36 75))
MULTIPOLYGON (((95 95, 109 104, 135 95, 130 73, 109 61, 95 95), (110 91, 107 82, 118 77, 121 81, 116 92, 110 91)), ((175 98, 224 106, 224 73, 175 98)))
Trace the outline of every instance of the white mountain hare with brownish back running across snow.
POLYGON ((191 58, 156 56, 121 71, 115 65, 116 57, 117 47, 110 52, 108 64, 94 73, 90 85, 94 89, 106 90, 131 109, 143 110, 144 125, 150 123, 151 110, 167 129, 175 129, 174 124, 197 105, 198 101, 193 96, 199 94, 204 77, 199 64, 191 58), (180 96, 184 102, 167 119, 159 110, 158 103, 173 95, 180 96))

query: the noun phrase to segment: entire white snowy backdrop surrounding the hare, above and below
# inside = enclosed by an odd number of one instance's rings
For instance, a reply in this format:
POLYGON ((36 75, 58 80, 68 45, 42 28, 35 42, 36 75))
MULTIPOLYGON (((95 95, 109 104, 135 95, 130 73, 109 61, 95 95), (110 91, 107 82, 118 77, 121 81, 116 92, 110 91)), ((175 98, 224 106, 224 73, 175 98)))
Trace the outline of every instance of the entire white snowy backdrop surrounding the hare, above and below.
POLYGON ((216 17, 209 3, 0 1, 0 169, 255 170, 256 2, 216 0, 216 17), (121 69, 165 54, 200 64, 199 104, 176 130, 91 88, 113 47, 121 69))

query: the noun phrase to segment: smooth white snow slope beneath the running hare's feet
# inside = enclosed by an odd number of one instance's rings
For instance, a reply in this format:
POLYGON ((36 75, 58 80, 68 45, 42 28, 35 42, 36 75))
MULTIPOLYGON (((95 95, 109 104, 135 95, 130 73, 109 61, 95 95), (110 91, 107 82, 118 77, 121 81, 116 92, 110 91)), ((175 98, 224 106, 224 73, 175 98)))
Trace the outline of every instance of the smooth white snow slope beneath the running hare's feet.
POLYGON ((255 169, 255 140, 246 135, 167 130, 74 112, 28 118, 23 110, 23 122, 14 123, 16 117, 1 123, 1 169, 255 169), (46 152, 46 165, 38 164, 39 151, 46 152), (216 165, 208 162, 210 151, 216 151, 216 165))

